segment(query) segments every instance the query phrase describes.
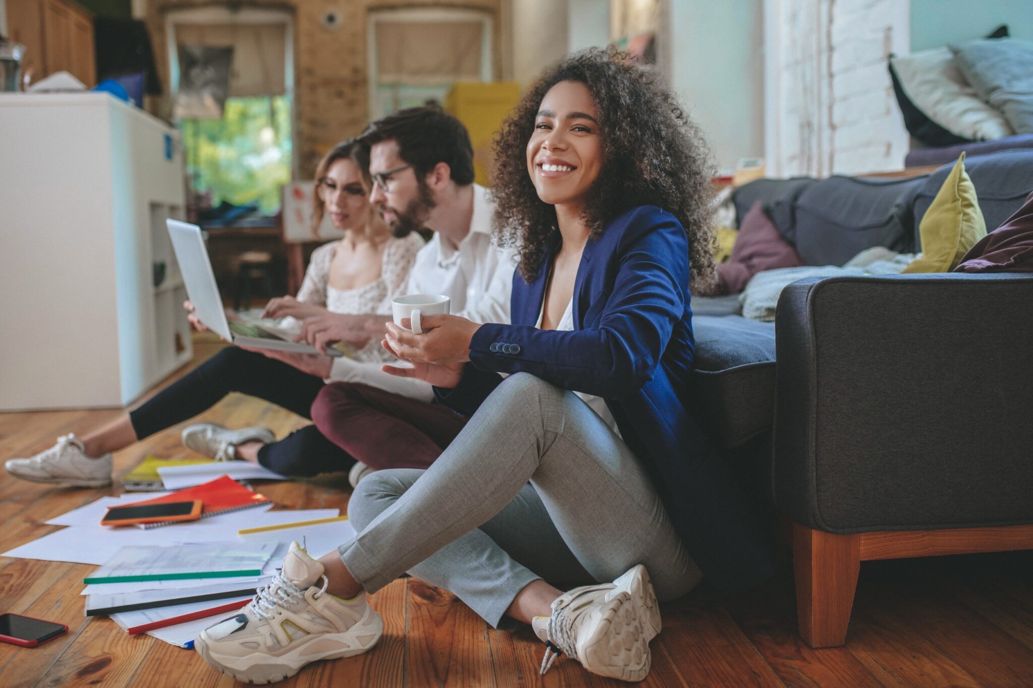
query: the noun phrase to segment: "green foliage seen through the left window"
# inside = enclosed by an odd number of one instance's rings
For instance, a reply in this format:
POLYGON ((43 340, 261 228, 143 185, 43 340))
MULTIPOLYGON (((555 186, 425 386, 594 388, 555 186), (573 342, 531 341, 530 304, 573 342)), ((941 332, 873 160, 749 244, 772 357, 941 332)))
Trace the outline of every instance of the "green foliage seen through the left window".
POLYGON ((187 173, 212 205, 257 202, 262 215, 280 209, 280 187, 290 182, 290 97, 227 98, 221 120, 179 123, 187 173))

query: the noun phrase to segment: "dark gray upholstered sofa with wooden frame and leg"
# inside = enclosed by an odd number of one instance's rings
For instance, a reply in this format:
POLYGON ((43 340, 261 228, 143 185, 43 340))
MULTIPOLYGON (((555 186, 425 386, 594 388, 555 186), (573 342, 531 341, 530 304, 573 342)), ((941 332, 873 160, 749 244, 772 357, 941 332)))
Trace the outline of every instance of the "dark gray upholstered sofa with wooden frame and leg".
MULTIPOLYGON (((1033 151, 967 162, 989 230, 1033 193, 1033 151)), ((845 177, 764 181, 791 198, 760 198, 819 253, 914 251, 948 171, 854 184, 867 203, 843 202, 845 177), (825 185, 835 202, 806 207, 825 185)), ((812 647, 844 643, 862 560, 1033 548, 1033 275, 809 279, 774 324, 693 322, 695 413, 785 519, 812 647)))

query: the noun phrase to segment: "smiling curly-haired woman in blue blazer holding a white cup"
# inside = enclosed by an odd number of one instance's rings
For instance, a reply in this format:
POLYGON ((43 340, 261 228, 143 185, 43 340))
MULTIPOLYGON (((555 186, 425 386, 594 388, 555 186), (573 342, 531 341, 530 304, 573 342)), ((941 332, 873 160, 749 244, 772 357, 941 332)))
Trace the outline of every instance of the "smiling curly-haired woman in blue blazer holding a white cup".
MULTIPOLYGON (((703 148, 649 73, 588 52, 531 89, 498 154, 497 218, 523 240, 512 324, 424 316, 424 332, 387 323, 383 341, 412 364, 385 371, 432 383, 469 420, 430 468, 364 478, 356 536, 318 562, 292 551, 284 589, 362 617, 312 631, 320 656, 371 647, 379 618, 361 593, 409 571, 492 625, 531 624, 542 671, 563 654, 641 681, 658 599, 772 570, 765 531, 687 409, 689 281, 711 266, 703 148)), ((241 618, 198 640, 202 654, 250 637, 241 618)))

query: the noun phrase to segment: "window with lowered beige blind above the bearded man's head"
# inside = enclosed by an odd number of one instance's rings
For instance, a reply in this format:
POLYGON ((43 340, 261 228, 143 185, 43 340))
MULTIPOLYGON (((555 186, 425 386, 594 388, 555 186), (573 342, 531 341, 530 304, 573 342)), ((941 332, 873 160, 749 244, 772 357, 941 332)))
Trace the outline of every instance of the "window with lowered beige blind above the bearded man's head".
POLYGON ((428 101, 457 81, 492 80, 492 18, 473 9, 370 11, 370 119, 428 101))

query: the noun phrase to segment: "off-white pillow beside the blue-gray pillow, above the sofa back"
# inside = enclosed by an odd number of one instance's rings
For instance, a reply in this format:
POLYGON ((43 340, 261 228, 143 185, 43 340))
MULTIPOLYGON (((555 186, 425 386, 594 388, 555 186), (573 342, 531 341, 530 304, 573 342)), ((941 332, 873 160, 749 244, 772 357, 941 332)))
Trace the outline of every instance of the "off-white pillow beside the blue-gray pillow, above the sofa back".
POLYGON ((1013 136, 1004 116, 979 99, 946 47, 893 57, 905 95, 922 114, 951 134, 977 141, 1013 136))

